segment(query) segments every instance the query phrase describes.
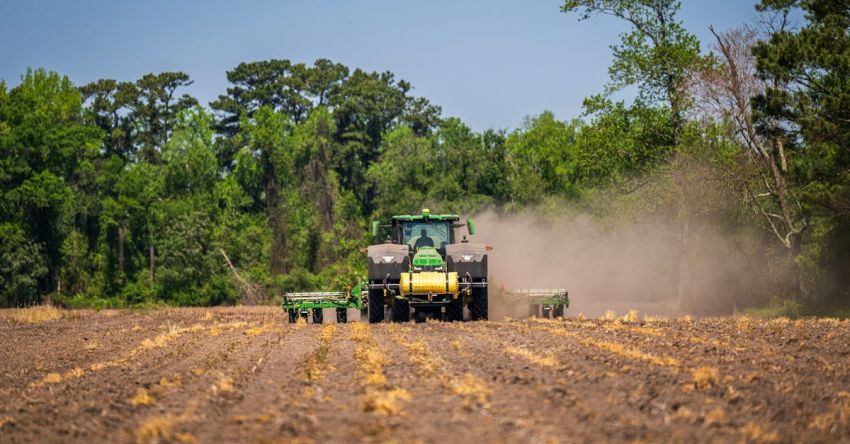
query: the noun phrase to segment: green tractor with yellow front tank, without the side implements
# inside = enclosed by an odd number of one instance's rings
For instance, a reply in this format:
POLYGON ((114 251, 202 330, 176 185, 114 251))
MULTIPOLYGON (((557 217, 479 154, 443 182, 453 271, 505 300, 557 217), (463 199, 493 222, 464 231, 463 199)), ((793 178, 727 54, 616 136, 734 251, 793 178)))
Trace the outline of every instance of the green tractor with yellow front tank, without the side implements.
POLYGON ((368 316, 417 322, 428 318, 462 321, 463 308, 473 321, 487 319, 487 251, 484 244, 459 238, 458 228, 475 234, 475 223, 455 214, 393 216, 372 223, 375 243, 367 249, 368 316), (381 235, 387 234, 383 242, 381 235))

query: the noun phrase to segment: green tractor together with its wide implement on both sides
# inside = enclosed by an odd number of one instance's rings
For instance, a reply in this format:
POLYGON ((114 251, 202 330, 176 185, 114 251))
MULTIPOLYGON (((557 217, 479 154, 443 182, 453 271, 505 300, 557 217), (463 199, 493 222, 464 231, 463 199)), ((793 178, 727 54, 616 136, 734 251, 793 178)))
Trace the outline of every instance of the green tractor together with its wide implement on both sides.
MULTIPOLYGON (((335 308, 337 322, 348 320, 348 309, 359 309, 369 323, 417 322, 427 319, 458 322, 464 308, 473 321, 488 319, 487 252, 492 247, 470 242, 459 229, 475 235, 475 222, 455 214, 393 216, 387 224, 372 222, 373 245, 366 249, 366 281, 340 292, 286 293, 282 308, 289 321, 306 318, 322 323, 322 311, 335 308)), ((494 289, 500 300, 530 304, 544 316, 563 316, 569 298, 563 289, 507 291, 494 289)))

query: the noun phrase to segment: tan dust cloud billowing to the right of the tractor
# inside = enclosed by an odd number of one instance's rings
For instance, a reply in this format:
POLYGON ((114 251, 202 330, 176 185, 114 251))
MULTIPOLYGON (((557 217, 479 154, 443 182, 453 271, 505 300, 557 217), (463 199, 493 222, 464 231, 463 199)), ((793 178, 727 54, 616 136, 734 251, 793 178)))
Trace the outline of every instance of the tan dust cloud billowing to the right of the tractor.
MULTIPOLYGON (((664 221, 605 226, 592 217, 564 216, 553 221, 533 213, 475 216, 474 242, 492 245, 491 286, 565 288, 570 294, 568 315, 726 314, 751 301, 762 283, 753 258, 737 246, 740 235, 721 234, 703 227, 689 238, 687 269, 680 276, 676 235, 664 221)), ((495 292, 494 292, 495 293, 495 292)), ((491 302, 491 319, 523 317, 528 309, 491 302)))

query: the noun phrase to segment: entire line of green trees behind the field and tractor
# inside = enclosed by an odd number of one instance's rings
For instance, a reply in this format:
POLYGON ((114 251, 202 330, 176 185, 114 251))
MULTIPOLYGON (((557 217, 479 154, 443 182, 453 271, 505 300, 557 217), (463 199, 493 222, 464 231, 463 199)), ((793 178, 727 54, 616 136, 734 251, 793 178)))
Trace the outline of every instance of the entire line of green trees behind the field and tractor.
POLYGON ((759 240, 741 245, 770 284, 752 301, 846 305, 850 13, 764 0, 767 27, 717 33, 706 54, 678 8, 567 1, 563 12, 632 31, 585 115, 544 112, 513 131, 473 131, 390 72, 325 59, 242 63, 208 107, 181 72, 77 86, 29 70, 0 83, 0 304, 338 289, 363 274, 373 218, 569 206, 600 223, 666 220, 682 298, 689 239, 710 225, 759 240), (626 86, 638 99, 613 101, 626 86))

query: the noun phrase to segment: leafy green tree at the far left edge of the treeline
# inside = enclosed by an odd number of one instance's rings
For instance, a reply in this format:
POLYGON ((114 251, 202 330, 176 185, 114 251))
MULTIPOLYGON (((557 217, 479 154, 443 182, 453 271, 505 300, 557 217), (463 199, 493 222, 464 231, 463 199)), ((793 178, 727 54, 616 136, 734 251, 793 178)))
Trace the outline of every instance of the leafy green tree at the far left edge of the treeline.
MULTIPOLYGON (((38 277, 40 293, 59 291, 73 201, 92 176, 101 133, 83 122, 82 97, 67 77, 28 70, 8 94, 5 86, 0 90, 0 223, 26 233, 28 242, 15 241, 14 251, 40 252, 41 258, 19 261, 34 267, 22 272, 38 277)), ((20 233, 6 232, 17 233, 15 239, 20 233)))

